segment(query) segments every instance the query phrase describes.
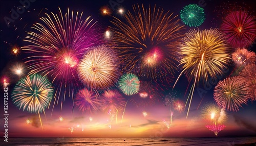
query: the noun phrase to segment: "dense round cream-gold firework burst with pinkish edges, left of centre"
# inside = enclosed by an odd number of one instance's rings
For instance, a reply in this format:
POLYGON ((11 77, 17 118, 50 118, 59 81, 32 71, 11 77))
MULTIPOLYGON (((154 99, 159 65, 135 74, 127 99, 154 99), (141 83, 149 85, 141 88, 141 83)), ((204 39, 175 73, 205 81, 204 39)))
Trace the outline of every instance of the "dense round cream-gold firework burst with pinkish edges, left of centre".
POLYGON ((118 81, 118 64, 117 55, 112 48, 95 46, 80 61, 78 76, 88 88, 102 90, 114 86, 118 81))

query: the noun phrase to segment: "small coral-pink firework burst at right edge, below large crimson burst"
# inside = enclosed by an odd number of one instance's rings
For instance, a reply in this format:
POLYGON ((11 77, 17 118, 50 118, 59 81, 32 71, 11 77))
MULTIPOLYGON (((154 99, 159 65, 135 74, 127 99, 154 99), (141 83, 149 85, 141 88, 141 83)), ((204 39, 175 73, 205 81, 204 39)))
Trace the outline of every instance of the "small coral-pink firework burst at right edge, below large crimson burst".
POLYGON ((237 66, 244 66, 246 64, 255 63, 256 54, 248 51, 246 48, 238 48, 236 52, 232 53, 232 59, 237 66))

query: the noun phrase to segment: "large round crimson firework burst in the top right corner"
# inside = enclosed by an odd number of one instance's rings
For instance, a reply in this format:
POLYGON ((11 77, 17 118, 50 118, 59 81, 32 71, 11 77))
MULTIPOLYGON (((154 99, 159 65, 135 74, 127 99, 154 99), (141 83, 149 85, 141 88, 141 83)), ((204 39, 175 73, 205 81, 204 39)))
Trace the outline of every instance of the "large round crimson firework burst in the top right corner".
POLYGON ((234 11, 224 18, 221 30, 232 47, 247 47, 256 38, 256 21, 244 11, 234 11))

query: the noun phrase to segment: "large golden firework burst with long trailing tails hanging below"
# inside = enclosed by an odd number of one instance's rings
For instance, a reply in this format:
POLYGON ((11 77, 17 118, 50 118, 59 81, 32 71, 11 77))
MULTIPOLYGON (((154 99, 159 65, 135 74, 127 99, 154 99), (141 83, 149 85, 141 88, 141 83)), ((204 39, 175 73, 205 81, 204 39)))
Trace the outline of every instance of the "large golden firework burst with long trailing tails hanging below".
MULTIPOLYGON (((194 79, 187 116, 193 98, 196 83, 201 80, 208 83, 211 77, 217 79, 231 59, 225 37, 218 29, 203 31, 189 30, 180 45, 182 58, 180 65, 189 81, 194 79)), ((178 79, 180 78, 178 77, 178 79)), ((177 79, 177 81, 178 81, 177 79)), ((177 83, 176 81, 176 83, 177 83)), ((175 84, 176 84, 175 83, 175 84)), ((174 85, 175 86, 175 85, 174 85)), ((188 96, 189 99, 189 96, 188 96)))

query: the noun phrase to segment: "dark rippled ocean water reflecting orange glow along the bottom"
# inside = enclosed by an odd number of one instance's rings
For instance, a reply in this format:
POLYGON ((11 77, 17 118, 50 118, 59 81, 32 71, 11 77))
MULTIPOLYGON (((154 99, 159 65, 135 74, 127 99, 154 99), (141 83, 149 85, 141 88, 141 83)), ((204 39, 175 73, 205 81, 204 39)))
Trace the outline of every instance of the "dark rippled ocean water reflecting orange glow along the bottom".
MULTIPOLYGON (((3 140, 3 139, 2 139, 3 140)), ((74 138, 74 137, 13 137, 1 145, 240 145, 253 143, 256 137, 212 138, 74 138), (125 140, 125 141, 124 141, 125 140)))

